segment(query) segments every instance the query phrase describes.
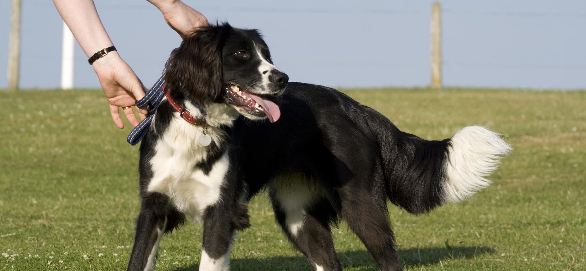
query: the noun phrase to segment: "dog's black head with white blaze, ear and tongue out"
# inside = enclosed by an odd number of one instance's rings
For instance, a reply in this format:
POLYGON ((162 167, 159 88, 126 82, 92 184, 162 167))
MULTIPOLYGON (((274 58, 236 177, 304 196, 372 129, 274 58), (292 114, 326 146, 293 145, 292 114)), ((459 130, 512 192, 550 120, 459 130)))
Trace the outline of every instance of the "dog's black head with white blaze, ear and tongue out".
POLYGON ((249 119, 275 122, 280 95, 289 77, 272 64, 267 44, 257 30, 227 23, 196 29, 165 67, 172 94, 207 104, 224 103, 249 119))

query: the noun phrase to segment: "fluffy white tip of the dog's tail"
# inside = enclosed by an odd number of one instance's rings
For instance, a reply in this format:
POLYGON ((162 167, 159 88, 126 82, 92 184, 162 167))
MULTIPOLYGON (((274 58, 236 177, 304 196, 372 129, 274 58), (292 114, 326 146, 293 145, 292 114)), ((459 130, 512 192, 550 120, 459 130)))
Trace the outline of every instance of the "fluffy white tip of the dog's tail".
POLYGON ((498 133, 469 126, 452 136, 445 166, 444 201, 457 203, 492 183, 486 179, 513 148, 498 133))

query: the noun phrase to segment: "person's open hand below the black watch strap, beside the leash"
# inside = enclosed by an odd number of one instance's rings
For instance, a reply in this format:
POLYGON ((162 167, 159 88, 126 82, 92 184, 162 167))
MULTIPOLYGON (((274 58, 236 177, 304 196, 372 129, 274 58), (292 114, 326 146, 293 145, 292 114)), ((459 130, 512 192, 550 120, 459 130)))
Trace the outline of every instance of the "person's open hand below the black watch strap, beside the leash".
MULTIPOLYGON (((114 124, 123 129, 124 122, 120 118, 118 108, 134 105, 136 100, 144 97, 147 88, 142 85, 141 80, 138 79, 132 68, 120 58, 116 51, 96 60, 93 67, 100 79, 100 85, 104 90, 106 99, 110 103, 110 114, 114 124)), ((123 111, 130 124, 137 126, 139 121, 134 115, 134 110, 127 108, 123 111)), ((147 118, 147 110, 138 108, 138 115, 141 120, 147 118)))

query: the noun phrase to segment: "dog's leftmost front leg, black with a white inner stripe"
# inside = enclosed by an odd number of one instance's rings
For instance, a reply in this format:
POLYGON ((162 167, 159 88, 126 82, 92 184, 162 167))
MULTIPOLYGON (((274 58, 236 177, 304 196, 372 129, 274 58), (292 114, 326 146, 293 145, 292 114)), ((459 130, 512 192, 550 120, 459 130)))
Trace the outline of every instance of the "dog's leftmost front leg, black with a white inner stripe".
POLYGON ((183 214, 169 210, 168 202, 169 197, 160 193, 149 193, 142 198, 127 270, 153 270, 163 234, 183 221, 183 214))

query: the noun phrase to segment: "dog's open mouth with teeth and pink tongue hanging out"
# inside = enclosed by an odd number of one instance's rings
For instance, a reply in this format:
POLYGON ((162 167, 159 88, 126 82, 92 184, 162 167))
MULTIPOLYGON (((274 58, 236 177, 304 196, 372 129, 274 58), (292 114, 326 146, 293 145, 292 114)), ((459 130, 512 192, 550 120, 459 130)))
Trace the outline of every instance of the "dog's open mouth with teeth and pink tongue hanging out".
POLYGON ((281 117, 279 106, 266 97, 254 95, 234 84, 226 85, 225 91, 234 104, 246 109, 250 115, 266 115, 270 122, 275 122, 281 117))

